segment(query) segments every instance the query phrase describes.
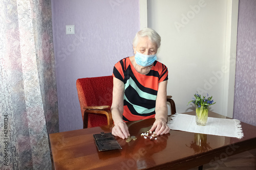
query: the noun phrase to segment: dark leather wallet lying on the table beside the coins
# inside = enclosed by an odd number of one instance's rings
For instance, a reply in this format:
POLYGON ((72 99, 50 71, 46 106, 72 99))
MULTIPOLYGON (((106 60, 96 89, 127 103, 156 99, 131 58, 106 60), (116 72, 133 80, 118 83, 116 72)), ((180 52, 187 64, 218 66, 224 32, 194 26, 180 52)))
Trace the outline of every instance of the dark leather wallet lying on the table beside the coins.
POLYGON ((112 133, 100 132, 100 134, 93 134, 93 138, 99 151, 122 149, 112 133))

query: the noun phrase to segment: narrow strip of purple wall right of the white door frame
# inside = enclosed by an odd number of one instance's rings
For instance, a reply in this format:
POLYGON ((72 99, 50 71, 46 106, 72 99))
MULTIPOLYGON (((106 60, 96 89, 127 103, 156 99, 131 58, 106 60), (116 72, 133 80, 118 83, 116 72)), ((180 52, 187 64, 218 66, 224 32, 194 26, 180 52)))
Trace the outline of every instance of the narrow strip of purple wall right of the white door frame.
POLYGON ((233 118, 256 126, 256 1, 239 1, 233 118))

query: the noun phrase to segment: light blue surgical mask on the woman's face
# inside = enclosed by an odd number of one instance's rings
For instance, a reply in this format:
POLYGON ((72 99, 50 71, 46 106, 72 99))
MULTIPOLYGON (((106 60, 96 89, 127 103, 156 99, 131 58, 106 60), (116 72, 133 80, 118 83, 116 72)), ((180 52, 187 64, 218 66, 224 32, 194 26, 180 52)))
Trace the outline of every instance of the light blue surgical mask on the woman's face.
POLYGON ((157 60, 157 55, 144 55, 136 51, 135 61, 138 65, 147 67, 152 65, 157 60))

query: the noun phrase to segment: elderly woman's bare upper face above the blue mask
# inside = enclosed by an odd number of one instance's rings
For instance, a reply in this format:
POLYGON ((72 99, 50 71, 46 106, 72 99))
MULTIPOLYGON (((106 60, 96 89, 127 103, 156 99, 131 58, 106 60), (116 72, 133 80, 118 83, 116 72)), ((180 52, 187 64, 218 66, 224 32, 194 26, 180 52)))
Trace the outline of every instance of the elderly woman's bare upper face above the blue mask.
POLYGON ((137 46, 133 47, 134 54, 136 51, 144 55, 153 55, 157 53, 157 44, 153 43, 147 36, 140 37, 137 46))

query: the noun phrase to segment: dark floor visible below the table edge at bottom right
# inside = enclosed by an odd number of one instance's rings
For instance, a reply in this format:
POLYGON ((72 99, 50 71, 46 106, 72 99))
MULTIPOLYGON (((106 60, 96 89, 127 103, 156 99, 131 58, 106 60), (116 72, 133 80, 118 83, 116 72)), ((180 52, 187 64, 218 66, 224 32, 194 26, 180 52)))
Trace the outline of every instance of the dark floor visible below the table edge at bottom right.
MULTIPOLYGON (((256 144, 256 143, 255 143, 256 144)), ((203 170, 255 170, 256 149, 203 165, 203 170)), ((189 170, 198 170, 198 167, 189 170)))

